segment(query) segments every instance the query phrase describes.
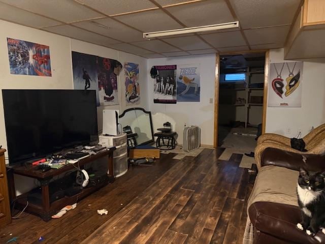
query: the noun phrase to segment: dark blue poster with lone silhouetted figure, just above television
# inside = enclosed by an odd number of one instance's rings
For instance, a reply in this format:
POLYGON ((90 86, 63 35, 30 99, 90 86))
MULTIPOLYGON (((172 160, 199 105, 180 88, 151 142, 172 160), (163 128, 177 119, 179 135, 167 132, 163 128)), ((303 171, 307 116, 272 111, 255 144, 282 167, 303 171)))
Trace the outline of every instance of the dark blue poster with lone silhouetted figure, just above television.
POLYGON ((96 58, 94 55, 72 52, 73 85, 77 90, 96 90, 97 106, 100 106, 96 58))

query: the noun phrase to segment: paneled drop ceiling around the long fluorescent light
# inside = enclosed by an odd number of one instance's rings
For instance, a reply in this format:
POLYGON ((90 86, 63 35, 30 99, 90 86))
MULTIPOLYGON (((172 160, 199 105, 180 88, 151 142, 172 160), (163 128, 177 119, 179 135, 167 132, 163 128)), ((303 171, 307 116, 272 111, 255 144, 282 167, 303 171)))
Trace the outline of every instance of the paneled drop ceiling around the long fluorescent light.
POLYGON ((0 19, 146 58, 283 47, 301 0, 0 0, 0 19), (146 40, 143 32, 239 21, 146 40))

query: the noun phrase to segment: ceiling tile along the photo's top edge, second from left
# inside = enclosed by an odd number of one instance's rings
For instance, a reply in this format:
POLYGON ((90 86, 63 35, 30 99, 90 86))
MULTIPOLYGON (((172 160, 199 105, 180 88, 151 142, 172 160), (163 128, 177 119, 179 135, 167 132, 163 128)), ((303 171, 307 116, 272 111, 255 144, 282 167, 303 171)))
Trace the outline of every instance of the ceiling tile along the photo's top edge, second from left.
POLYGON ((128 12, 139 11, 144 9, 157 8, 157 6, 151 3, 149 0, 137 0, 137 1, 78 0, 78 1, 107 15, 115 15, 115 14, 128 13, 128 12))

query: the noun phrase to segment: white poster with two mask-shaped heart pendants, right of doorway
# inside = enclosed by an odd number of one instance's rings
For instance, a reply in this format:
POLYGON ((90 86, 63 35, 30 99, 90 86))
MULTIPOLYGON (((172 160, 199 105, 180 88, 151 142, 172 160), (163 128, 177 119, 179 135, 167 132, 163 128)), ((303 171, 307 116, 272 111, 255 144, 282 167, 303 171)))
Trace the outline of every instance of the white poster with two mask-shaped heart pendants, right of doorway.
POLYGON ((269 107, 301 107, 303 62, 271 63, 269 107))

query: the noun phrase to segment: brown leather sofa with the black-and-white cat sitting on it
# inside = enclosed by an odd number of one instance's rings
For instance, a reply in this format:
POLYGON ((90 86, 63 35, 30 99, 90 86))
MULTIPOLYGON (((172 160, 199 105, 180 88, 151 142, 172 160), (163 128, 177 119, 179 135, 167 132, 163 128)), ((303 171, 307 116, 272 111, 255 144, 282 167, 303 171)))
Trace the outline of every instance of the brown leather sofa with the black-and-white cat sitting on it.
MULTIPOLYGON (((267 148, 262 155, 261 171, 263 167, 266 167, 265 169, 268 170, 277 168, 298 176, 299 173, 296 171, 299 171, 299 168, 302 166, 311 171, 325 170, 325 155, 304 154, 304 156, 306 158, 303 158, 301 154, 276 148, 267 148)), ((283 177, 283 175, 281 177, 283 177)), ((277 182, 282 179, 274 175, 273 180, 277 182)), ((258 184, 263 184, 263 177, 258 178, 257 174, 256 181, 254 188, 257 187, 256 185, 258 184)), ((295 184, 291 184, 288 187, 295 188, 295 186, 297 186, 295 184)), ((286 188, 286 186, 283 187, 283 189, 286 188)), ((272 193, 272 189, 267 190, 271 195, 276 194, 276 192, 272 193)), ((289 190, 291 192, 295 191, 295 189, 289 190)), ((285 198, 285 195, 283 196, 285 198)), ((297 223, 301 221, 300 208, 297 205, 271 201, 256 201, 248 205, 248 215, 253 226, 254 244, 325 243, 325 234, 320 231, 313 237, 296 227, 297 223)))

